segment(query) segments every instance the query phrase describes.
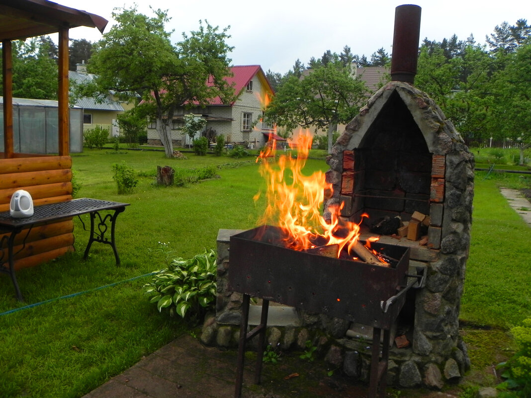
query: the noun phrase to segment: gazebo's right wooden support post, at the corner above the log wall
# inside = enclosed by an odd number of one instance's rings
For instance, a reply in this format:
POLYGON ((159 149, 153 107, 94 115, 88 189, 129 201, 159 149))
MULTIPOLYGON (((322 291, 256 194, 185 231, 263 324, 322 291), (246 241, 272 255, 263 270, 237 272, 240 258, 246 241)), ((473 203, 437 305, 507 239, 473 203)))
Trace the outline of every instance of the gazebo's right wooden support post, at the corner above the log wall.
POLYGON ((59 122, 59 155, 66 156, 70 153, 70 118, 68 108, 68 28, 59 30, 59 88, 58 122, 59 122))

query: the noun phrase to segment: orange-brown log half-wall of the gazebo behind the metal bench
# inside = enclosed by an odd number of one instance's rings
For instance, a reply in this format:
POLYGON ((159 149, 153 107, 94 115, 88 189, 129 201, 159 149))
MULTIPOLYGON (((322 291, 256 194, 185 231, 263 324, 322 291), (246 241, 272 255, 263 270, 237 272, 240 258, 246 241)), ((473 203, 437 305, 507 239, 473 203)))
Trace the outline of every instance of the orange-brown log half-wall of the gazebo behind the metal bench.
MULTIPOLYGON (((0 212, 9 211, 17 189, 28 191, 33 206, 72 199, 72 158, 43 156, 0 159, 0 212)), ((74 250, 72 219, 32 228, 23 247, 23 230, 15 238, 15 269, 35 266, 74 250)), ((2 239, 3 235, 0 235, 2 239)))

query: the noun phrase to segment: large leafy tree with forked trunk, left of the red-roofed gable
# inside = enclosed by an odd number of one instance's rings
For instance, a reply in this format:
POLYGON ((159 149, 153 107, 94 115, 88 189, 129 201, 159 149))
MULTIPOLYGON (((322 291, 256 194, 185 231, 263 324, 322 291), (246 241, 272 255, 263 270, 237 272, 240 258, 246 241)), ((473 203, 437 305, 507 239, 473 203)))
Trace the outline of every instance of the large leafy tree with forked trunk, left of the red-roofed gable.
POLYGON ((234 86, 225 77, 230 74, 228 53, 233 49, 228 27, 219 31, 199 21, 198 31, 183 33, 183 40, 170 43, 171 32, 164 29, 166 12, 153 10, 149 18, 136 7, 113 13, 117 23, 97 42, 88 67, 96 74, 85 96, 108 90, 127 97, 138 92, 145 114, 157 120, 157 132, 166 157, 173 157, 171 125, 178 107, 206 106, 219 97, 228 103, 235 99, 234 86))

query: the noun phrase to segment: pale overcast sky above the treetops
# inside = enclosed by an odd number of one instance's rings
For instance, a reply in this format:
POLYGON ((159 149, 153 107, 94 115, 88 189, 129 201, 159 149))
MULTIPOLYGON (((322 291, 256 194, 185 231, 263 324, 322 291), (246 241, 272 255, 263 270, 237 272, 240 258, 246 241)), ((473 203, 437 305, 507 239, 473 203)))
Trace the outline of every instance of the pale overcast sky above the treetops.
MULTIPOLYGON (((105 32, 115 23, 114 8, 130 8, 134 2, 124 0, 55 0, 61 5, 98 14, 109 21, 105 32)), ((149 6, 167 10, 171 18, 166 30, 175 30, 172 42, 182 40, 182 32, 197 30, 199 20, 225 28, 232 36, 227 42, 234 46, 233 65, 261 65, 264 72, 281 74, 292 68, 298 58, 305 65, 311 57, 319 58, 326 50, 340 53, 345 45, 353 54, 371 55, 383 47, 392 53, 395 8, 401 4, 422 7, 420 40, 441 41, 454 33, 459 40, 470 34, 484 44, 485 36, 494 27, 518 19, 531 22, 531 1, 504 0, 243 0, 169 1, 137 0, 139 12, 153 16, 149 6)), ((72 39, 97 41, 97 29, 74 28, 72 39)))

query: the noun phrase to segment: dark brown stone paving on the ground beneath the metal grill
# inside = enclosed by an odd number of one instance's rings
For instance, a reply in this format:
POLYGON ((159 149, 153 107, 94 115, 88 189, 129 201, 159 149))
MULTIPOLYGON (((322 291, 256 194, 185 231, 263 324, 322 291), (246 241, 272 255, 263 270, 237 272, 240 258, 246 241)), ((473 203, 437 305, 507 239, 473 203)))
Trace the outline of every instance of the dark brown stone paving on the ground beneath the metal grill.
MULTIPOLYGON (((83 398, 232 398, 236 351, 205 347, 198 339, 183 335, 83 398)), ((352 383, 339 373, 322 377, 323 371, 304 368, 303 363, 313 362, 298 358, 291 364, 286 362, 265 364, 262 384, 255 386, 254 362, 247 359, 242 398, 366 397, 365 385, 352 383), (300 372, 300 377, 284 378, 294 371, 300 372)), ((451 392, 413 389, 401 393, 407 398, 457 398, 451 392)))

